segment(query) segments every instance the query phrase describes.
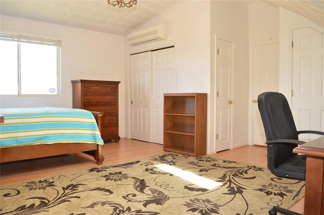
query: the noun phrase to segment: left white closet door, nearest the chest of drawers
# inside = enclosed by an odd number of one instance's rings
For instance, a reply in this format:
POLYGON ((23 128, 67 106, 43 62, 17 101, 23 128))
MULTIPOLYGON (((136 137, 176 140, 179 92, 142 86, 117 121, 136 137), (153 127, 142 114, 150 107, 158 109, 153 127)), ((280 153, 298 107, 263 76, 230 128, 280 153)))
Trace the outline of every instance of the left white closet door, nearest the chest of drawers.
POLYGON ((151 52, 130 56, 130 136, 151 142, 151 52))

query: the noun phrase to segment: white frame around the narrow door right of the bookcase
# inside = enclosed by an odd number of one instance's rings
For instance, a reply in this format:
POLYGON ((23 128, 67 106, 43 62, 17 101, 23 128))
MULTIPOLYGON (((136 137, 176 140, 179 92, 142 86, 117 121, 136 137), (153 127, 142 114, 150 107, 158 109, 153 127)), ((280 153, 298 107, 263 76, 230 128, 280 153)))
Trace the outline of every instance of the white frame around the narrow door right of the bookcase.
MULTIPOLYGON (((217 61, 218 61, 218 55, 217 55, 217 49, 218 49, 218 44, 217 44, 217 40, 218 39, 221 39, 221 40, 225 40, 225 41, 228 41, 232 44, 232 78, 231 78, 231 97, 232 97, 232 100, 235 101, 235 98, 234 98, 234 74, 235 74, 235 68, 234 68, 234 40, 231 39, 231 38, 228 38, 228 37, 225 37, 225 36, 221 36, 221 35, 218 35, 218 34, 215 34, 215 48, 214 48, 214 53, 215 53, 215 59, 214 59, 214 72, 215 72, 215 75, 214 75, 214 78, 213 78, 213 85, 215 86, 214 88, 214 92, 211 92, 211 98, 213 98, 214 101, 211 101, 211 107, 214 107, 214 110, 213 110, 213 114, 215 117, 211 117, 211 121, 210 121, 210 128, 214 127, 214 129, 210 129, 210 142, 213 142, 213 151, 209 151, 208 153, 217 153, 216 151, 216 144, 217 144, 217 139, 216 139, 216 135, 217 135, 217 61)), ((235 103, 234 103, 235 104, 235 103)), ((230 127, 230 148, 229 149, 233 149, 233 113, 234 113, 234 104, 232 104, 232 108, 231 108, 231 120, 232 120, 232 123, 231 123, 231 127, 230 127)), ((212 145, 212 144, 210 144, 212 145)))

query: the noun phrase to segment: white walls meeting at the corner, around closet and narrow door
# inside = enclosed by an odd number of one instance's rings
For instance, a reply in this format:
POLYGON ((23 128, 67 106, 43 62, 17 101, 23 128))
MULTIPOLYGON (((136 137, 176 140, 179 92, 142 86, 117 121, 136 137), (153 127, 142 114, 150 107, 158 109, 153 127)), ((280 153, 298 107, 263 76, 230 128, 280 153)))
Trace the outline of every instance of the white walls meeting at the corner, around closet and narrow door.
POLYGON ((140 47, 126 46, 128 55, 175 46, 177 92, 208 93, 207 152, 215 152, 215 106, 211 104, 215 86, 215 33, 235 42, 234 60, 234 146, 247 144, 248 108, 248 5, 240 1, 183 1, 136 30, 160 23, 168 26, 168 39, 140 47))

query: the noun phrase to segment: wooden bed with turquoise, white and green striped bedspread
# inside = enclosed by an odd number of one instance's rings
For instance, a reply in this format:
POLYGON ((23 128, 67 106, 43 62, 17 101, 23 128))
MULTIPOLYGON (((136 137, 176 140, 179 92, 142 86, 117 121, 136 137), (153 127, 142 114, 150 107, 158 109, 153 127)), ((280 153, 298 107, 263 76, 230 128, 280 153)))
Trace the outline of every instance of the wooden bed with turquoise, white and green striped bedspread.
POLYGON ((101 112, 0 108, 0 162, 84 152, 101 165, 101 112))

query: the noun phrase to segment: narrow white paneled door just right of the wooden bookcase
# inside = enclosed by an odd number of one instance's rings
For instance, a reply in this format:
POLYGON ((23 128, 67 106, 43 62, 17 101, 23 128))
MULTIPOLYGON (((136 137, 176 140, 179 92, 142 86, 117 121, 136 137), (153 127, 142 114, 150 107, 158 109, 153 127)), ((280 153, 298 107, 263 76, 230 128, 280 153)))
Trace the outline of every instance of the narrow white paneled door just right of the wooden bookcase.
POLYGON ((216 61, 216 151, 232 142, 232 43, 217 39, 216 61))

